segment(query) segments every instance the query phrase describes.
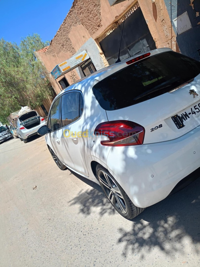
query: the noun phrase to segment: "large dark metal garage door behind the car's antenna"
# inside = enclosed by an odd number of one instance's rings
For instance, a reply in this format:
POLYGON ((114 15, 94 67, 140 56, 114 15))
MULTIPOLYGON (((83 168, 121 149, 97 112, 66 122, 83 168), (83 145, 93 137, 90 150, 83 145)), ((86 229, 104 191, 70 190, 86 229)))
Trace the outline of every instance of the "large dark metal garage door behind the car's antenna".
MULTIPOLYGON (((122 29, 123 23, 99 43, 110 65, 118 59, 122 29)), ((125 20, 120 59, 124 60, 153 49, 156 49, 155 42, 139 7, 125 20)))

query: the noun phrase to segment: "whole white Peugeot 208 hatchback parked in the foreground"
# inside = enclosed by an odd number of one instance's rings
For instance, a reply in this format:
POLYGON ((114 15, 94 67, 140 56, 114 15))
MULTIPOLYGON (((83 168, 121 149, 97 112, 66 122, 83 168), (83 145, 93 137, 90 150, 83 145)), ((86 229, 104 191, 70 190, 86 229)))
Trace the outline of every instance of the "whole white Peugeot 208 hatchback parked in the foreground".
POLYGON ((200 62, 162 48, 111 65, 59 93, 38 133, 134 218, 199 171, 200 62))

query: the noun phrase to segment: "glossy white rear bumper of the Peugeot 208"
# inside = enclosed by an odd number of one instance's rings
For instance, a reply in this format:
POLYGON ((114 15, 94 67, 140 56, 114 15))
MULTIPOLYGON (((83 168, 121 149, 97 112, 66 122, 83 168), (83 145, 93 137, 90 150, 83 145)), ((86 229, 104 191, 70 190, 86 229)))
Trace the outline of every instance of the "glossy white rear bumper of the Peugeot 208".
MULTIPOLYGON (((200 167, 200 126, 167 142, 112 147, 107 168, 137 207, 148 207, 200 167)), ((199 174, 200 176, 200 174, 199 174)))

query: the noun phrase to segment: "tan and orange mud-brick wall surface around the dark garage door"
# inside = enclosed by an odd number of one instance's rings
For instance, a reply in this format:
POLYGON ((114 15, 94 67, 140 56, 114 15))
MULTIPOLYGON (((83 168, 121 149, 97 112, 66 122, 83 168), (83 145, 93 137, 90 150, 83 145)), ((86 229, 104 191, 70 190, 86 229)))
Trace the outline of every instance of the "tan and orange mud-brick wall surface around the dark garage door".
MULTIPOLYGON (((196 1, 196 0, 195 0, 196 1)), ((109 30, 137 1, 129 0, 110 6, 108 0, 75 0, 45 53, 35 52, 48 72, 74 54, 87 49, 95 68, 101 69, 108 62, 101 50, 98 38, 109 30)), ((138 0, 150 33, 157 48, 170 47, 179 52, 176 34, 164 0, 138 0)), ((135 25, 140 27, 140 25, 135 25)), ((80 68, 65 74, 69 84, 82 77, 80 68)), ((60 78, 62 79, 62 77, 60 78)), ((61 91, 58 81, 49 74, 56 93, 61 91)), ((59 79, 58 79, 59 80, 59 79)))

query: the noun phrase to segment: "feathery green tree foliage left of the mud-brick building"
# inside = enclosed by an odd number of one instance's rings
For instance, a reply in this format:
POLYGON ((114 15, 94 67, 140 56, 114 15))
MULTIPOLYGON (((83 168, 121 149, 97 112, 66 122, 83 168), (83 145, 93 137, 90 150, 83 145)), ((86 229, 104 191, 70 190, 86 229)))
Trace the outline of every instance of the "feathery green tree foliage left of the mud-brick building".
POLYGON ((23 38, 19 46, 0 39, 0 121, 21 106, 36 109, 51 96, 46 70, 34 54, 48 44, 38 34, 23 38))

